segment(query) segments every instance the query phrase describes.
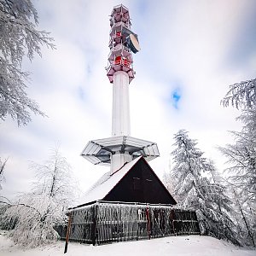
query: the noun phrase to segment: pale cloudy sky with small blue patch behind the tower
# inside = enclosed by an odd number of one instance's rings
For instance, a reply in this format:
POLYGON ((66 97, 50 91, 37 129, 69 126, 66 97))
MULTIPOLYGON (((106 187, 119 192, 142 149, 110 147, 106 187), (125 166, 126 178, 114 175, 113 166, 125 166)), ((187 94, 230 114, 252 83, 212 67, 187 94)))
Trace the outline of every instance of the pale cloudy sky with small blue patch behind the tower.
POLYGON ((223 108, 230 84, 255 78, 256 2, 253 0, 33 0, 38 30, 50 32, 56 49, 23 61, 31 72, 27 94, 48 117, 32 114, 18 127, 0 122, 0 155, 9 157, 2 195, 28 191, 32 162, 49 159, 58 145, 81 191, 109 171, 80 156, 86 143, 111 137, 112 84, 108 66, 109 15, 123 3, 141 51, 133 56, 130 84, 131 136, 158 143, 149 162, 161 178, 172 168, 173 135, 189 131, 204 156, 223 172, 218 146, 232 143, 239 111, 223 108))

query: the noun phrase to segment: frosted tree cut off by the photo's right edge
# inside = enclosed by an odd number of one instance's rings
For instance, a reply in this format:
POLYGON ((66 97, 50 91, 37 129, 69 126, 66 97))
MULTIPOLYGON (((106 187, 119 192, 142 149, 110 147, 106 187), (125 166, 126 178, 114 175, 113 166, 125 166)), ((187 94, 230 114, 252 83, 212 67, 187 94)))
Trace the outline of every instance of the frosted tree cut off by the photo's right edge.
MULTIPOLYGON (((241 131, 231 131, 234 143, 219 147, 227 157, 229 182, 241 218, 241 233, 255 247, 256 244, 256 79, 230 85, 222 101, 241 109, 237 118, 243 123, 241 131)), ((249 242, 248 242, 249 241, 249 242)))

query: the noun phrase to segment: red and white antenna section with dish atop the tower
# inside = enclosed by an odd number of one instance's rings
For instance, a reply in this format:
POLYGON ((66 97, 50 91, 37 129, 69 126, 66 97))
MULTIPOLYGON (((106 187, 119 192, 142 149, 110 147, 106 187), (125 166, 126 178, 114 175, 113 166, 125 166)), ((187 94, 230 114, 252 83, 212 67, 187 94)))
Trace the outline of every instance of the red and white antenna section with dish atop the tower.
POLYGON ((107 75, 113 83, 113 74, 124 71, 129 84, 134 79, 132 54, 140 50, 137 34, 131 31, 129 9, 125 5, 115 6, 110 15, 109 49, 107 75))

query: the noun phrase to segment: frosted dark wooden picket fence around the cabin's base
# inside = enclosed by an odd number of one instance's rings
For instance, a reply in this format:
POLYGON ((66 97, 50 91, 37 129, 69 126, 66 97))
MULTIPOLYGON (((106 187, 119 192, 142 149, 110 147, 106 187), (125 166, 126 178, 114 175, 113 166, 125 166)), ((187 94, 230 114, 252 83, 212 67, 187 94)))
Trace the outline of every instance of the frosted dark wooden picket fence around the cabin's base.
MULTIPOLYGON (((69 240, 102 244, 161 236, 200 234, 195 212, 170 206, 97 201, 69 212, 69 240)), ((65 239, 67 225, 55 229, 65 239)))

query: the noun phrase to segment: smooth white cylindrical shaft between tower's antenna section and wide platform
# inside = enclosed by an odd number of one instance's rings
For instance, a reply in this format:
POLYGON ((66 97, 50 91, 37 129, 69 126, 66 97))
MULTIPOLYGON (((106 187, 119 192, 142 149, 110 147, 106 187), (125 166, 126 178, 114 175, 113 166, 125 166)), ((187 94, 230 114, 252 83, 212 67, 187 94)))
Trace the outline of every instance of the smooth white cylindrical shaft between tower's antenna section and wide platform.
POLYGON ((129 76, 113 73, 112 136, 130 136, 129 76))

